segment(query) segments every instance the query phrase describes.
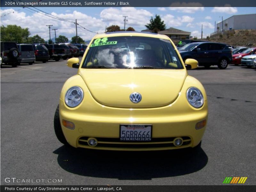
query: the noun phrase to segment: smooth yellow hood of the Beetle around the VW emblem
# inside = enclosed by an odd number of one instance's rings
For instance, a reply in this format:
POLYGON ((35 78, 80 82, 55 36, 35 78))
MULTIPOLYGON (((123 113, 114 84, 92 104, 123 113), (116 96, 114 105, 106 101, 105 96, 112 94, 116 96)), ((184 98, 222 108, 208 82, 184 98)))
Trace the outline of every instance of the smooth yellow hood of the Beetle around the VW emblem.
POLYGON ((118 108, 154 108, 171 104, 188 75, 186 69, 83 68, 78 74, 97 102, 118 108), (141 94, 139 103, 131 102, 133 92, 141 94))

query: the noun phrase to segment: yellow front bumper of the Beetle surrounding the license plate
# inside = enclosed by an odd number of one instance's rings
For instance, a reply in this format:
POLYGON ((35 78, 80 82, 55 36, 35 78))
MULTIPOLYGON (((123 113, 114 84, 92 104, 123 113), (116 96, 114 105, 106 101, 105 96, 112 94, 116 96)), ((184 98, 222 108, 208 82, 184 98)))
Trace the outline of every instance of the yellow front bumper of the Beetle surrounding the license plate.
POLYGON ((207 120, 207 100, 200 110, 192 113, 167 115, 165 112, 176 110, 175 105, 160 108, 129 109, 113 108, 99 104, 99 113, 80 113, 76 108, 68 108, 63 100, 60 100, 60 123, 62 131, 68 143, 73 147, 91 148, 101 150, 169 150, 178 148, 195 147, 202 140, 205 127, 196 130, 196 123, 207 120), (164 115, 165 114, 165 115, 164 115), (70 130, 63 126, 62 119, 73 122, 75 129, 70 130), (120 124, 151 124, 152 140, 142 142, 120 141, 120 124), (177 137, 183 139, 179 147, 173 145, 177 137), (95 147, 88 145, 88 139, 95 138, 98 144, 95 147))

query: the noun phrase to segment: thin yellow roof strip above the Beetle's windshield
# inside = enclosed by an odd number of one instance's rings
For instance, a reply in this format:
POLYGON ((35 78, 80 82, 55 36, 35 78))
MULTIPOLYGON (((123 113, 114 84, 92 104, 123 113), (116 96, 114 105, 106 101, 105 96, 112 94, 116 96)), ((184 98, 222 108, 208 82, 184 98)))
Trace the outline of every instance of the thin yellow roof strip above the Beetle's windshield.
POLYGON ((95 35, 94 38, 115 37, 115 36, 143 36, 143 37, 154 37, 154 38, 169 40, 169 37, 166 35, 149 33, 149 32, 137 32, 137 31, 117 31, 117 32, 109 32, 109 33, 100 33, 95 35))

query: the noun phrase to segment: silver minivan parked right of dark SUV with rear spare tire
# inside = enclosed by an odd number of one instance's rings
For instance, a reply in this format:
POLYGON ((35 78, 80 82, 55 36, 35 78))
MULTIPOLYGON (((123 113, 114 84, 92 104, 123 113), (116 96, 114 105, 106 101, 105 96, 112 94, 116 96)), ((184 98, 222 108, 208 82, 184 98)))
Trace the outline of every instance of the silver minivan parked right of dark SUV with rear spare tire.
POLYGON ((36 61, 35 52, 31 44, 17 44, 21 53, 20 63, 28 63, 32 65, 36 61))

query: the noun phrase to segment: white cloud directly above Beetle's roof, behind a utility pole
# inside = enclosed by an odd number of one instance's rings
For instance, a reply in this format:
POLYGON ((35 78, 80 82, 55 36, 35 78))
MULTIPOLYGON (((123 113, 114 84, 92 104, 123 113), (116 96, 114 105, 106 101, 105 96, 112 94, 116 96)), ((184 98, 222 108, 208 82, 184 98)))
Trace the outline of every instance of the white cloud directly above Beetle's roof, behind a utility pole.
POLYGON ((135 30, 138 30, 136 27, 145 29, 144 25, 149 23, 150 17, 153 16, 151 12, 148 12, 144 9, 136 9, 134 7, 122 7, 121 9, 117 8, 107 8, 100 12, 100 18, 103 22, 108 23, 109 25, 118 25, 120 28, 124 27, 124 17, 126 17, 127 27, 133 27, 135 30))

